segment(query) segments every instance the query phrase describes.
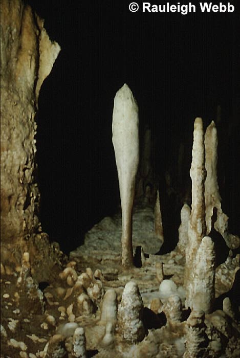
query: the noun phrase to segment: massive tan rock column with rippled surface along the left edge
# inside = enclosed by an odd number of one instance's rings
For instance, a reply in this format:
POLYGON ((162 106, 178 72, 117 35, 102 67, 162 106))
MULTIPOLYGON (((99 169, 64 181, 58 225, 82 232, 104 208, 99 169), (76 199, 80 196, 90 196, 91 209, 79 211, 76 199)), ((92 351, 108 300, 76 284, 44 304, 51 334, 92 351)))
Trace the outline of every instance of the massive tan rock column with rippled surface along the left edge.
POLYGON ((21 0, 1 0, 1 238, 21 246, 38 231, 35 114, 60 51, 21 0))

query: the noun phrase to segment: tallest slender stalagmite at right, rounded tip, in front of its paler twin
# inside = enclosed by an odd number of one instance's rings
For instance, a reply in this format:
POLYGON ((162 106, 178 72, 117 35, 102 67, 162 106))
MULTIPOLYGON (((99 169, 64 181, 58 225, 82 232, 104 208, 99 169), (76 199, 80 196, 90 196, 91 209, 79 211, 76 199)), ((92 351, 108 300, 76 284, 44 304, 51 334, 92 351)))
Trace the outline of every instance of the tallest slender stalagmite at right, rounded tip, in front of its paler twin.
POLYGON ((192 205, 188 225, 188 245, 186 247, 186 265, 184 285, 186 288, 186 307, 192 308, 193 275, 195 256, 202 238, 206 234, 205 221, 205 149, 202 118, 196 118, 193 131, 192 163, 190 177, 192 181, 192 205))

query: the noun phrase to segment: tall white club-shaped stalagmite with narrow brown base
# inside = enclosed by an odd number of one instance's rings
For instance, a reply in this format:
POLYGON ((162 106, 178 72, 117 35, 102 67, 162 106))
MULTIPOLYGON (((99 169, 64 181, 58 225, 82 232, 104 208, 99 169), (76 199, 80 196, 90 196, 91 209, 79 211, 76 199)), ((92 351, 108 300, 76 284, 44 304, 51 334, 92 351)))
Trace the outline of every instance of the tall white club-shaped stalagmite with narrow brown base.
POLYGON ((122 264, 133 265, 132 211, 138 168, 138 106, 125 83, 117 92, 113 109, 113 145, 122 207, 122 264))

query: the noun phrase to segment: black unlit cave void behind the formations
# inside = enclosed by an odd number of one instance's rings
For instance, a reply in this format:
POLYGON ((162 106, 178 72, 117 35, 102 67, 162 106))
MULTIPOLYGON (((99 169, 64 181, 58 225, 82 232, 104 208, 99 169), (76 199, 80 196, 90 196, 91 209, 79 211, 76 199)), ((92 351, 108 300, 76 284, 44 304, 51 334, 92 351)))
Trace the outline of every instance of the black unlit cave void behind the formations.
POLYGON ((202 13, 194 2, 197 12, 187 15, 131 13, 130 1, 120 0, 28 3, 61 46, 42 85, 37 115, 40 219, 50 239, 69 253, 118 208, 112 111, 125 82, 139 105, 140 133, 146 126, 152 130, 169 250, 177 242, 182 203, 167 196, 165 172, 184 196, 191 185, 194 119, 202 117, 206 128, 216 121, 217 105, 222 110, 217 123, 222 207, 230 232, 239 235, 239 2, 230 2, 234 13, 202 13))

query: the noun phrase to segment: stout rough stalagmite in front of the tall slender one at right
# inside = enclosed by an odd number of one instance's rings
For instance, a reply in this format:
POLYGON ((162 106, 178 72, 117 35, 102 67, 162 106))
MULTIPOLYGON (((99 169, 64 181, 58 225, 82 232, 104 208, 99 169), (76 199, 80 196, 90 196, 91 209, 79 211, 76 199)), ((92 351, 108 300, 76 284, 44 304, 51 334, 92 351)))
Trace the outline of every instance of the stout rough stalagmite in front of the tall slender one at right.
POLYGON ((215 254, 214 243, 208 236, 202 239, 199 246, 193 272, 193 302, 190 308, 209 314, 215 298, 215 254))

